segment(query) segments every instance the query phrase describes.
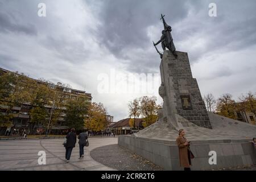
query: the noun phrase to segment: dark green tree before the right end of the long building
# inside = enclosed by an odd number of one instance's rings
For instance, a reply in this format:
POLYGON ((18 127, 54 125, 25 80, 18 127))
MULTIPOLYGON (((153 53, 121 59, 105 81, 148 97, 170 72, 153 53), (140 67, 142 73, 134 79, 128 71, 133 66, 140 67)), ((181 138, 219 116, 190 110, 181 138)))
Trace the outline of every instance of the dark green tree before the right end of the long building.
POLYGON ((75 100, 67 101, 66 105, 66 124, 69 128, 81 130, 84 128, 84 119, 88 115, 89 102, 86 97, 79 96, 75 100))

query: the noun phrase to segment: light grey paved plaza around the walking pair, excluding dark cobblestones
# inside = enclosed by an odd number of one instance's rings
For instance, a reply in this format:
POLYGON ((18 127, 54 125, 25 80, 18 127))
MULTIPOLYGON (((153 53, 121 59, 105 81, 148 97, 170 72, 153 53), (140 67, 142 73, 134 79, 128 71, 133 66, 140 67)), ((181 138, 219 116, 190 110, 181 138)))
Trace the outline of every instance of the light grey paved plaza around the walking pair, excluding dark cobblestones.
POLYGON ((117 144, 117 136, 91 137, 85 147, 84 159, 79 159, 79 144, 73 148, 69 163, 65 162, 64 139, 0 140, 0 170, 115 170, 93 160, 90 151, 94 148, 117 144), (38 152, 46 152, 46 165, 38 164, 38 152))

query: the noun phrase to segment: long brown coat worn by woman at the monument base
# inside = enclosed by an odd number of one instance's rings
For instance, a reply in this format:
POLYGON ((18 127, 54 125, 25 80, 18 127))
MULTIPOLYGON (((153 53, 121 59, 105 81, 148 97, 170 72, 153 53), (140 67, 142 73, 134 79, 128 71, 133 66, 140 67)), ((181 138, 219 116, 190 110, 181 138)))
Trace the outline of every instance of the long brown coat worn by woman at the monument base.
POLYGON ((179 147, 179 159, 180 159, 180 166, 181 167, 190 167, 189 160, 190 156, 188 156, 188 147, 185 146, 185 142, 187 139, 185 137, 179 136, 176 139, 177 146, 179 147))

